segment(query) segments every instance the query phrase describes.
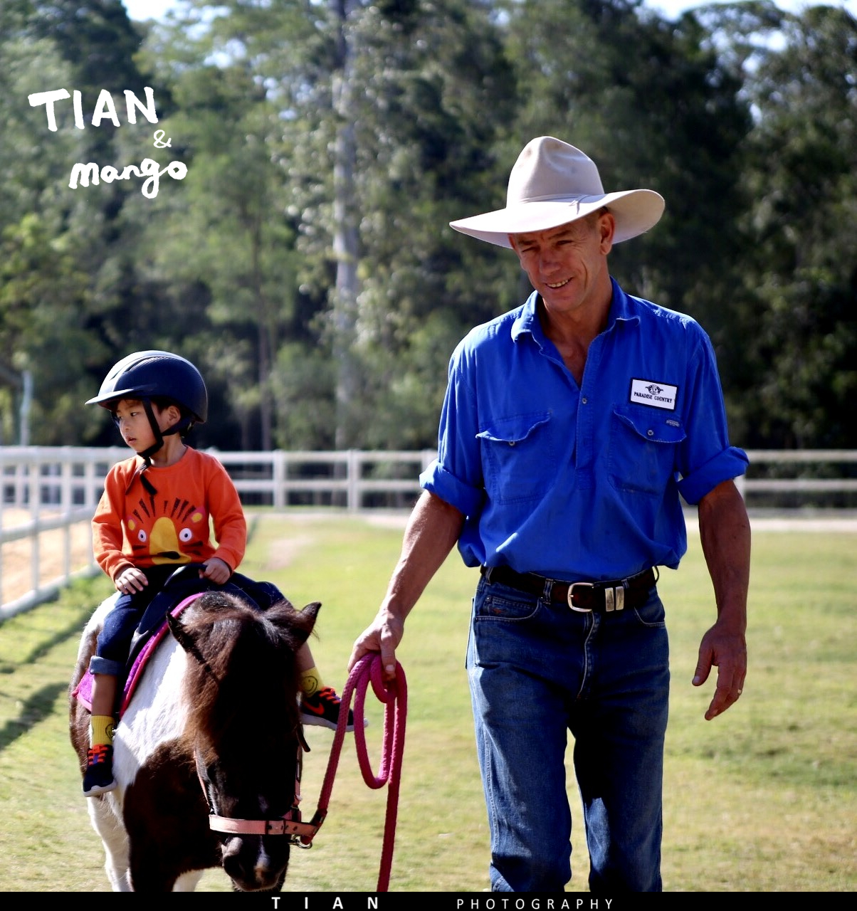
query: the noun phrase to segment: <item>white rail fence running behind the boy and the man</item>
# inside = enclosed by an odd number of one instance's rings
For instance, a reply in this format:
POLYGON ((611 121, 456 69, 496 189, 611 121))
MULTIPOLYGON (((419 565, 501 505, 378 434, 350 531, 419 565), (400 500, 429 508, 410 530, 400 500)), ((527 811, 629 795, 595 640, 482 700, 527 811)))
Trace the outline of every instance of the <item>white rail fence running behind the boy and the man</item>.
MULTIPOLYGON (((417 477, 435 455, 434 450, 209 452, 226 466, 246 506, 352 512, 410 507, 419 494, 417 477)), ((833 506, 841 506, 835 501, 842 497, 850 506, 857 504, 857 469, 852 467, 857 466, 857 451, 753 450, 748 455, 750 472, 740 479, 740 489, 750 505, 774 497, 780 505, 800 506, 807 496, 816 502, 832 496, 833 506), (777 466, 778 476, 770 476, 771 466, 777 466)), ((86 558, 73 558, 73 535, 88 533, 103 478, 126 457, 128 450, 119 446, 0 448, 0 620, 51 597, 77 575, 96 571, 91 548, 86 548, 86 558), (45 544, 51 532, 55 534, 45 544), (21 552, 22 541, 29 543, 28 554, 21 552), (45 578, 48 556, 52 565, 58 558, 59 567, 45 578), (30 588, 6 600, 5 580, 13 572, 20 576, 22 561, 28 563, 30 588)))

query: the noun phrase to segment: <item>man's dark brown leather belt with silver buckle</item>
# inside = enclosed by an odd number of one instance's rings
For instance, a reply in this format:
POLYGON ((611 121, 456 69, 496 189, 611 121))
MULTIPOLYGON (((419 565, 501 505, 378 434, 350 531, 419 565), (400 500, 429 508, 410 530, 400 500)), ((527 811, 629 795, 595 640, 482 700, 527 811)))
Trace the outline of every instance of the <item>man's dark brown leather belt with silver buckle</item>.
POLYGON ((648 600, 649 589, 658 581, 655 569, 644 569, 636 576, 607 582, 564 582, 534 572, 515 572, 511 567, 482 567, 479 571, 489 583, 499 582, 583 613, 641 608, 648 600))

